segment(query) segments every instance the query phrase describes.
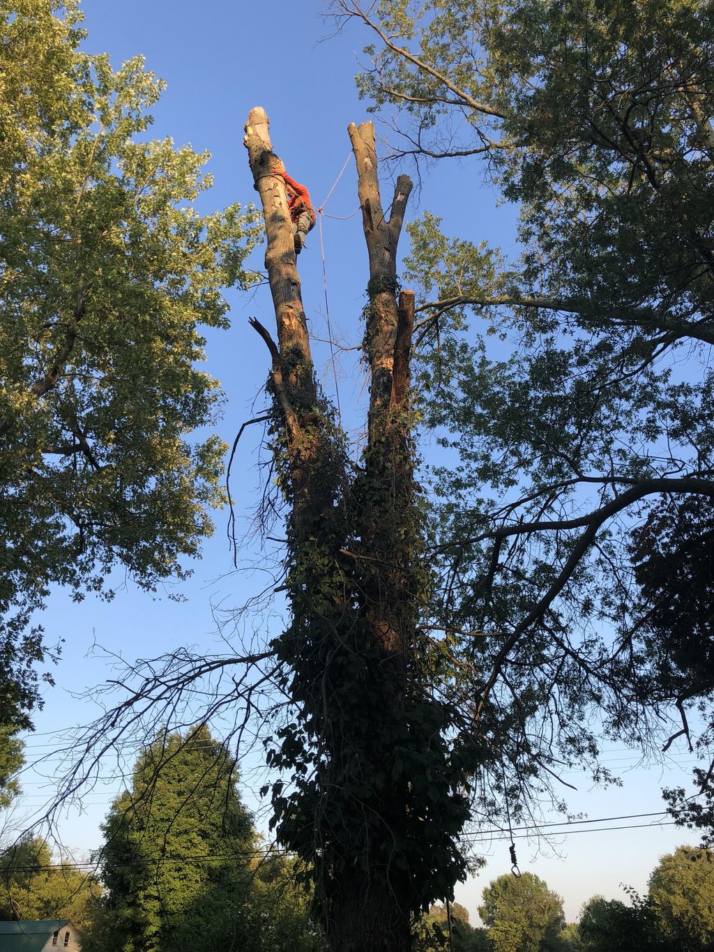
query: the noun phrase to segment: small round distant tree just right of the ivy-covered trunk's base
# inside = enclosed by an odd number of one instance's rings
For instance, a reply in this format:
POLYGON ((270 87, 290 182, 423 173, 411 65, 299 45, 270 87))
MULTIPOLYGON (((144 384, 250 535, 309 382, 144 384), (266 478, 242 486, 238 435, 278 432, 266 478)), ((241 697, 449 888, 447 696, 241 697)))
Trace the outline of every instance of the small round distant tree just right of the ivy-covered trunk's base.
POLYGON ((479 915, 494 952, 545 952, 559 948, 563 900, 539 877, 499 876, 484 889, 479 915))

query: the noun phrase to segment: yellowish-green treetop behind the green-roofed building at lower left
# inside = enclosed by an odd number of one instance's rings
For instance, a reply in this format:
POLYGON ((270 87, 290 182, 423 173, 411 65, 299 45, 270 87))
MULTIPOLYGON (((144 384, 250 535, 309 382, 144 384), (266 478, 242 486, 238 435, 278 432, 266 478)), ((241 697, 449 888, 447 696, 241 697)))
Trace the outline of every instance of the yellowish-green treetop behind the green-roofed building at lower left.
POLYGON ((84 930, 99 891, 72 863, 52 863, 41 837, 26 837, 0 855, 0 919, 70 919, 84 930))

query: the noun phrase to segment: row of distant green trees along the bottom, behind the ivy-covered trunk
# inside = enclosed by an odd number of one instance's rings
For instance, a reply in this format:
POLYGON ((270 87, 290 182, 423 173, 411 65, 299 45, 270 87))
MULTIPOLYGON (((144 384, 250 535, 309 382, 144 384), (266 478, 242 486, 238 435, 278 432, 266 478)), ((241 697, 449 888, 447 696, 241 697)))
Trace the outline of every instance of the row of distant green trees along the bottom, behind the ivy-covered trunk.
MULTIPOLYGON (((16 785, 12 787, 17 792, 16 785)), ((6 788, 7 793, 7 788, 6 788)), ((9 798, 6 798, 9 799, 9 798)), ((103 825, 91 863, 57 863, 28 836, 0 853, 0 919, 68 918, 84 952, 323 952, 309 883, 261 842, 238 769, 206 725, 160 732, 144 747, 103 825)), ((706 952, 714 946, 714 853, 680 846, 645 896, 594 896, 566 923, 538 876, 499 876, 483 891, 483 927, 458 902, 413 923, 413 952, 706 952)))

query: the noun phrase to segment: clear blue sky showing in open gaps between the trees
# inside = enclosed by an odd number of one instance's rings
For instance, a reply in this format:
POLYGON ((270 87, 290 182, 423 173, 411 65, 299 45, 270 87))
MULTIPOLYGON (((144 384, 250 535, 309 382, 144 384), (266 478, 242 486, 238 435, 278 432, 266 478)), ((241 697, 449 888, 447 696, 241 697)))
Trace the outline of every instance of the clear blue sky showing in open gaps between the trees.
MULTIPOLYGON (((89 50, 108 51, 115 68, 130 56, 143 53, 148 68, 166 80, 168 89, 154 109, 153 134, 168 135, 179 145, 190 143, 194 149, 211 152, 208 169, 215 186, 202 196, 203 210, 254 199, 242 137, 248 109, 257 105, 268 112, 273 145, 288 171, 307 184, 316 205, 323 202, 349 154, 347 124, 367 118, 366 104, 359 101, 353 82, 360 50, 370 39, 363 30, 348 28, 327 38, 333 29, 320 17, 318 0, 275 0, 270 5, 245 0, 203 0, 200 4, 188 0, 86 0, 84 10, 89 50)), ((514 211, 496 208, 494 194, 481 183, 482 173, 475 162, 443 165, 426 175, 411 214, 428 209, 444 217, 447 233, 473 241, 487 239, 511 251, 514 211)), ((355 177, 348 165, 325 210, 347 216, 356 208, 355 177)), ((353 345, 361 336, 359 316, 367 283, 367 251, 359 216, 347 221, 325 219, 324 237, 332 331, 339 340, 353 345)), ((260 255, 258 266, 259 259, 260 255)), ((317 229, 309 235, 299 264, 309 327, 316 337, 325 338, 317 229)), ((267 351, 248 327, 248 317, 256 316, 269 326, 272 313, 264 289, 247 295, 231 292, 230 304, 232 327, 209 335, 207 365, 222 381, 227 395, 221 431, 229 442, 241 423, 263 406, 267 351)), ((327 347, 318 344, 315 352, 317 367, 325 370, 325 387, 331 393, 334 384, 327 347)), ((340 402, 346 418, 356 420, 352 409, 362 398, 363 380, 359 367, 347 358, 338 375, 340 402)), ((260 483, 259 432, 253 430, 248 430, 239 448, 233 484, 244 531, 249 529, 260 483)), ((86 723, 96 714, 97 708, 80 696, 112 675, 106 655, 91 653, 95 642, 129 661, 179 645, 195 645, 208 654, 218 644, 217 620, 229 618, 222 613, 243 604, 263 587, 259 555, 249 542, 241 554, 244 564, 254 567, 240 573, 231 571, 226 521, 226 513, 217 514, 216 533, 205 547, 203 560, 194 566, 193 578, 184 586, 185 603, 166 597, 152 599, 134 591, 130 584, 120 585, 109 605, 93 599, 74 605, 64 593, 53 593, 44 624, 50 641, 64 639, 63 659, 55 672, 57 686, 48 689, 45 710, 35 719, 37 733, 28 741, 30 754, 47 755, 49 760, 40 772, 28 772, 23 809, 42 803, 52 778, 65 763, 64 757, 55 753, 57 733, 86 723)), ((275 624, 279 624, 277 620, 264 619, 262 630, 269 632, 275 624)), ((660 810, 660 786, 685 783, 690 760, 684 753, 675 753, 666 767, 654 765, 643 770, 635 766, 638 758, 631 751, 619 744, 607 745, 605 763, 623 770, 624 785, 603 792, 591 791, 585 782, 571 798, 573 812, 605 818, 660 810)), ((107 769, 110 773, 110 764, 107 769)), ((567 779, 579 785, 579 778, 567 779)), ((62 825, 63 839, 70 847, 89 850, 100 843, 98 823, 115 789, 115 783, 95 788, 83 797, 84 813, 70 813, 62 825)), ((606 825, 629 823, 649 820, 606 825)), ((568 919, 573 919, 581 903, 594 893, 624 898, 619 883, 644 890, 658 857, 686 842, 696 841, 686 832, 657 825, 571 833, 565 839, 554 837, 550 845, 517 841, 521 868, 541 876, 565 897, 568 919)), ((484 843, 483 851, 488 856, 486 869, 478 880, 460 887, 457 895, 471 911, 472 921, 483 886, 509 868, 505 842, 484 843)))

